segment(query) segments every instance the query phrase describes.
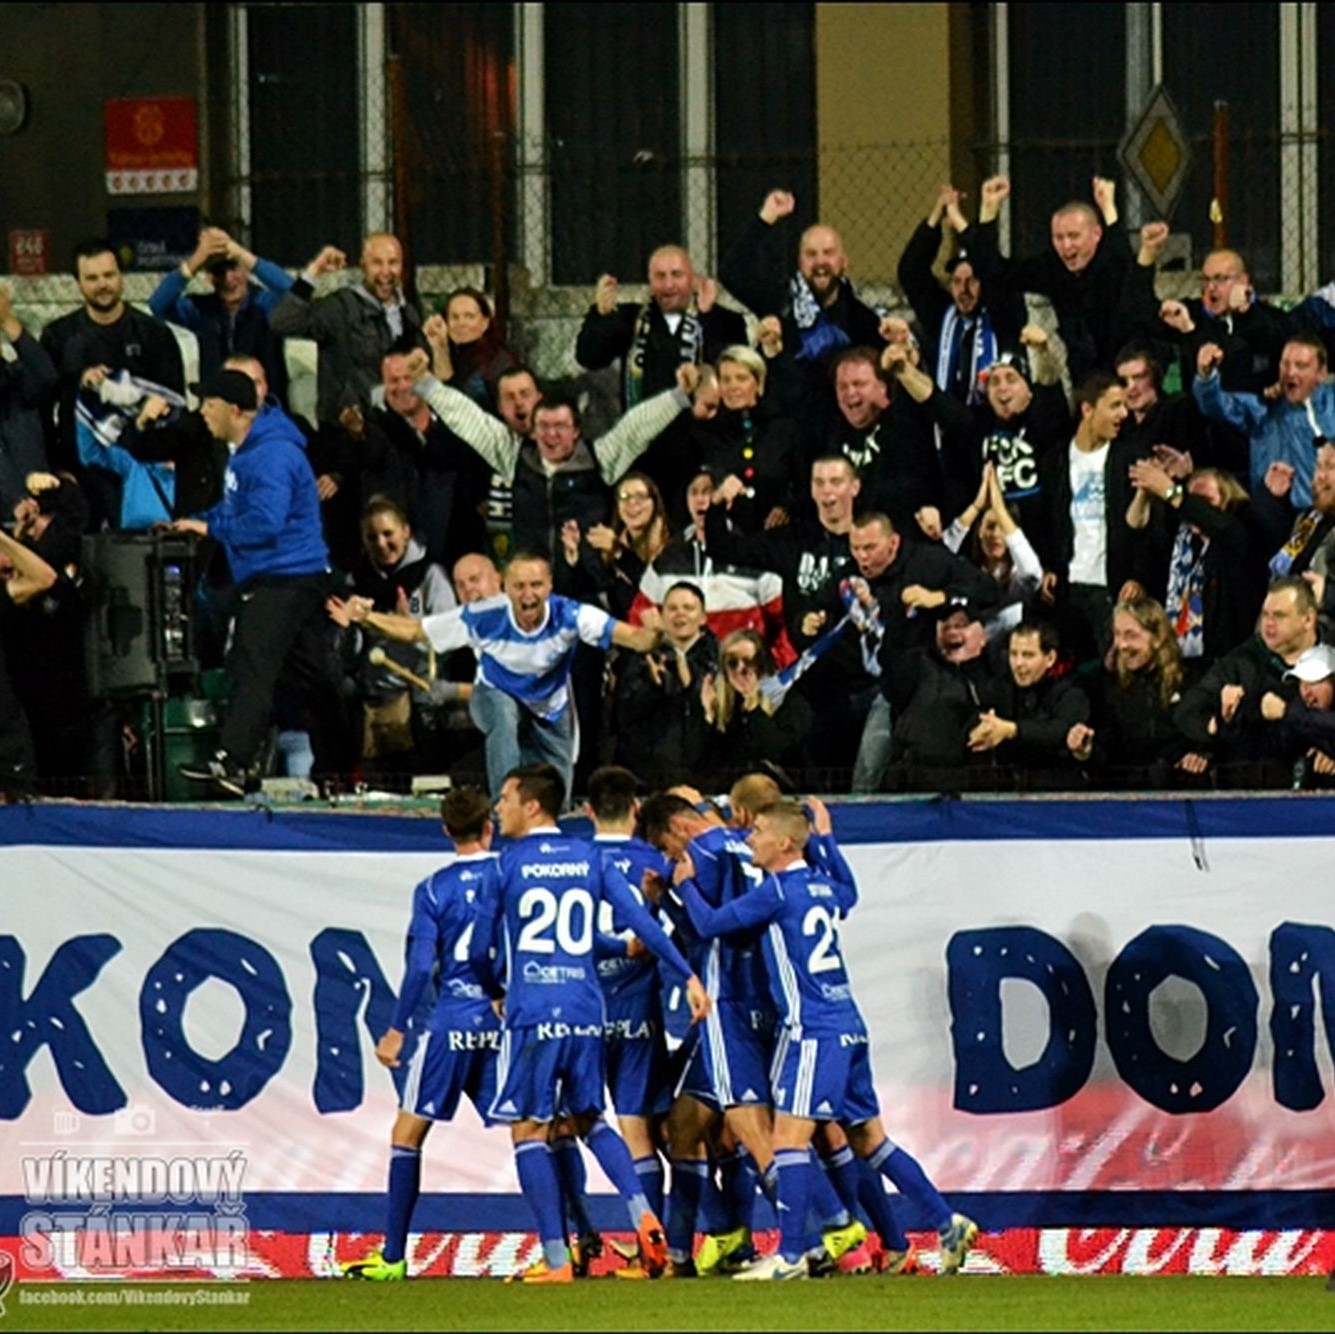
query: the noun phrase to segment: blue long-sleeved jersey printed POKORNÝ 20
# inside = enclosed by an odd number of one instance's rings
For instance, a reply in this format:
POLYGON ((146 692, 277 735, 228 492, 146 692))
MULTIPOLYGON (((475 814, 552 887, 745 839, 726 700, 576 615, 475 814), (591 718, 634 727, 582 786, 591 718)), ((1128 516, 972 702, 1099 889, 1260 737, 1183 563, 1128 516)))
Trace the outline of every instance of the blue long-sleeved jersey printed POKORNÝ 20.
POLYGON ((602 867, 595 844, 555 827, 535 829, 501 853, 495 887, 478 903, 471 961, 490 995, 501 980, 490 963, 493 943, 503 961, 506 1026, 603 1023, 602 988, 594 965, 599 905, 611 904, 629 927, 678 977, 690 969, 662 927, 630 893, 614 869, 602 867))

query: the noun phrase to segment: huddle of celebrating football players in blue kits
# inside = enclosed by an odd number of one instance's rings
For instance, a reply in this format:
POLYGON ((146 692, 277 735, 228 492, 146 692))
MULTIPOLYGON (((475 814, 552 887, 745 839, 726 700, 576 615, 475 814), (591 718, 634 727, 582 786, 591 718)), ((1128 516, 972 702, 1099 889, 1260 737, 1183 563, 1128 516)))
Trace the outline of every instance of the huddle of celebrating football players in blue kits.
POLYGON ((422 1144, 462 1094, 486 1124, 510 1127, 542 1243, 525 1282, 571 1282, 602 1250, 581 1142, 637 1238, 619 1277, 912 1273, 882 1179, 937 1229, 940 1273, 959 1271, 976 1225, 881 1126, 840 952, 857 885, 824 804, 782 800, 765 774, 733 788, 730 823, 689 789, 642 804, 635 792, 629 770, 597 770, 595 833, 577 839, 557 825, 558 772, 514 769, 495 804, 499 853, 487 797, 445 797, 457 857, 417 887, 398 1008, 376 1046, 399 1064, 434 987, 391 1135, 384 1243, 343 1273, 407 1275, 422 1144), (760 1194, 780 1220, 764 1257, 760 1194))

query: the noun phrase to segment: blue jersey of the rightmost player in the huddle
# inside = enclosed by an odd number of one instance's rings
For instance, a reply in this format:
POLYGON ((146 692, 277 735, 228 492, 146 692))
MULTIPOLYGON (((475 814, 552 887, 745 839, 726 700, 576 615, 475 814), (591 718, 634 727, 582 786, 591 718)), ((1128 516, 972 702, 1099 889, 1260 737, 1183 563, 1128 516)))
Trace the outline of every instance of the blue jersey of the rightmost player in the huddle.
POLYGON ((769 989, 785 1027, 804 1032, 865 1031, 838 940, 838 920, 857 901, 850 880, 801 861, 765 876, 757 888, 720 908, 708 904, 689 881, 684 889, 701 935, 768 928, 769 989))

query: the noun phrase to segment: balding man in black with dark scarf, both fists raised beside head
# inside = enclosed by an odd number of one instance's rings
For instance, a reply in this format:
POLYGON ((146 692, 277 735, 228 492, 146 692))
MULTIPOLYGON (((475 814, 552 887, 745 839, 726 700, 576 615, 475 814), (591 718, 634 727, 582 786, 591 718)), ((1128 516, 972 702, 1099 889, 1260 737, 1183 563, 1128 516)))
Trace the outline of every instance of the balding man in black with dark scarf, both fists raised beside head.
POLYGON ((621 302, 618 290, 613 274, 598 279, 575 361, 586 370, 619 361, 626 409, 673 389, 682 362, 713 362, 746 342, 746 320, 717 303, 718 284, 696 272, 681 246, 659 246, 649 256, 649 300, 621 302))

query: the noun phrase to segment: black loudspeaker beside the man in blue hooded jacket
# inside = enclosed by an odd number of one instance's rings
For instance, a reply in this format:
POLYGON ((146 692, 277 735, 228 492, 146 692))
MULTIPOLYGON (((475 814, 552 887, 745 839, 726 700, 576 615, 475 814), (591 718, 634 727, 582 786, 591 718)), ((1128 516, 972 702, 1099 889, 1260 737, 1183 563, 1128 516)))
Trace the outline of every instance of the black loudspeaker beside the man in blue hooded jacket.
POLYGON ((195 539, 96 533, 83 555, 89 693, 166 694, 172 677, 194 676, 195 539))

